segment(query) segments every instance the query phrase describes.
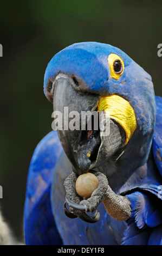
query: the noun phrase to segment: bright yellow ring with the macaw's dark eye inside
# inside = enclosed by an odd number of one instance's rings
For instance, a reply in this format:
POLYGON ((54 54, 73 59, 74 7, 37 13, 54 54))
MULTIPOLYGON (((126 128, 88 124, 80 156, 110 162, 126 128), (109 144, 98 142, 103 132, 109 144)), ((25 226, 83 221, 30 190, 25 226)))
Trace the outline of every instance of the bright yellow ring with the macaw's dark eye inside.
POLYGON ((109 68, 111 71, 111 77, 118 80, 124 72, 124 62, 117 54, 110 54, 108 56, 109 68))

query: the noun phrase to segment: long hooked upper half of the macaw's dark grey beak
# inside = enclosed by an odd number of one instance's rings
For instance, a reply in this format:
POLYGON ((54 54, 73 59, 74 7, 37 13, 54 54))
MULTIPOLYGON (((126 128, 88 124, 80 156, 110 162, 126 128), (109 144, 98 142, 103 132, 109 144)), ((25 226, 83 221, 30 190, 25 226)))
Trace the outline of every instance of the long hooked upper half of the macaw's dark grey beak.
MULTIPOLYGON (((54 88, 54 112, 60 114, 60 128, 57 130, 62 147, 72 163, 75 172, 79 175, 88 172, 91 161, 84 155, 78 153, 81 144, 81 134, 85 132, 88 117, 86 112, 90 114, 98 105, 99 96, 77 92, 73 89, 72 84, 66 78, 59 78, 55 83, 54 88), (62 127, 61 127, 62 126, 62 127), (82 163, 85 163, 82 166, 82 163)), ((56 119, 55 119, 56 121, 56 119)), ((99 136, 97 139, 89 139, 92 150, 96 144, 100 144, 99 136)), ((88 138, 87 138, 88 140, 88 138)), ((88 148, 88 147, 87 147, 88 148)), ((85 153, 86 154, 86 153, 85 153)), ((88 154, 88 153, 87 153, 88 154)))

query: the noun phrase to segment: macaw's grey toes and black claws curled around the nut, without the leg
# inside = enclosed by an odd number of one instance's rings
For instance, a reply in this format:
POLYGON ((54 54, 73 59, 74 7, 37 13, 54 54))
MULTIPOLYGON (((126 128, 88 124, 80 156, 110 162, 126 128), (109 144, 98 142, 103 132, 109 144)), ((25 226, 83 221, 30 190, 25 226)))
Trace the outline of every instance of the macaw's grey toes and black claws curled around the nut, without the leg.
POLYGON ((66 188, 64 213, 70 218, 79 217, 83 221, 94 223, 100 218, 100 214, 96 208, 106 196, 108 181, 104 174, 95 172, 94 170, 91 170, 90 172, 98 178, 99 185, 88 198, 80 197, 76 193, 75 183, 77 175, 75 173, 70 174, 64 181, 64 186, 66 188), (69 206, 69 210, 66 208, 66 203, 69 206), (94 215, 90 216, 87 214, 87 212, 93 212, 95 210, 96 212, 94 215))

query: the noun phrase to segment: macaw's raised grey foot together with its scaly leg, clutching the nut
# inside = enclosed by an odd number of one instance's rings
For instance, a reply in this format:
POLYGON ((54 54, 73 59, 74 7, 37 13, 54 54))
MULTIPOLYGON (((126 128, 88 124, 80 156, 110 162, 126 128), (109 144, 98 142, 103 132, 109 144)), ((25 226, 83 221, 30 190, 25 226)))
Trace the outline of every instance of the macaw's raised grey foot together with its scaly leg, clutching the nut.
POLYGON ((90 197, 83 198, 76 193, 75 183, 77 175, 72 173, 64 181, 66 188, 66 202, 64 204, 64 213, 69 218, 79 217, 81 220, 94 223, 99 220, 100 214, 96 210, 98 205, 103 203, 105 209, 109 215, 118 221, 126 221, 131 217, 131 203, 128 198, 114 193, 109 187, 106 176, 103 173, 90 171, 99 180, 98 187, 93 191, 90 197), (66 208, 66 203, 69 206, 69 210, 66 208), (90 216, 87 212, 95 211, 95 214, 90 216))

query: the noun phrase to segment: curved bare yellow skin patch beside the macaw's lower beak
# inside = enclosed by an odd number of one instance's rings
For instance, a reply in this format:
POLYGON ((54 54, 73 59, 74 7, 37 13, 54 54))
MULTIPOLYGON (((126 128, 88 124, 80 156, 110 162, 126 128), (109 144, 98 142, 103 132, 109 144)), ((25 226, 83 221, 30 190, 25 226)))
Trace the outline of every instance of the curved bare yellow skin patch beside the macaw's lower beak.
POLYGON ((137 127, 135 113, 129 102, 118 95, 101 96, 98 103, 99 111, 104 111, 122 126, 127 144, 137 127))

